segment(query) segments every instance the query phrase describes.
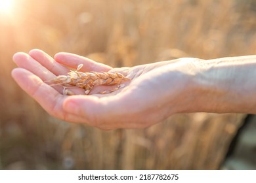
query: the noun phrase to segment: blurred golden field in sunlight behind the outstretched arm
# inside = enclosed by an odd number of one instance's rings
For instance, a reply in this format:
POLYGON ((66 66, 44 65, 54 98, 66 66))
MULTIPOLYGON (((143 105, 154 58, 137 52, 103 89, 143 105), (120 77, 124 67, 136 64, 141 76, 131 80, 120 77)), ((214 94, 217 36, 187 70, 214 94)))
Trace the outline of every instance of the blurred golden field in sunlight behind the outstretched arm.
POLYGON ((14 83, 15 52, 72 52, 112 67, 256 54, 253 0, 0 0, 0 169, 235 169, 244 114, 177 114, 101 131, 49 116, 14 83))

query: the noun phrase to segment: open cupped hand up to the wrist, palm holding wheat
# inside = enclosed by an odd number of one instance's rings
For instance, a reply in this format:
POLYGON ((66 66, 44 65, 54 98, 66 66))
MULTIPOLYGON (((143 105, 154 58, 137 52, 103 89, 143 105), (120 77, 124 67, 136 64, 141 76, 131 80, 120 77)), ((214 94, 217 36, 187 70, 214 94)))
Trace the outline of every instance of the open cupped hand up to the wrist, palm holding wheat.
POLYGON ((54 59, 41 50, 16 53, 18 65, 12 77, 49 114, 68 122, 85 123, 100 129, 148 127, 171 114, 185 110, 186 93, 190 92, 189 75, 197 59, 177 59, 135 67, 112 68, 75 54, 58 53, 54 59), (62 95, 62 86, 49 86, 45 81, 66 75, 68 67, 83 64, 81 71, 118 72, 131 78, 125 87, 109 94, 84 94, 81 88, 69 89, 75 95, 62 95), (184 103, 184 105, 182 105, 184 103))

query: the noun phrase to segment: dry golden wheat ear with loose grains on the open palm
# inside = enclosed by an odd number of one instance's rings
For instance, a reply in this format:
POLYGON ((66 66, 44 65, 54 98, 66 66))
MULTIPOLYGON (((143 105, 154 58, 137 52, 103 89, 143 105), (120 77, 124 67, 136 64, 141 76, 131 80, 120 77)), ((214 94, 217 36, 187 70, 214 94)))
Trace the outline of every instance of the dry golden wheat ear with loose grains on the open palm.
POLYGON ((83 67, 82 64, 78 65, 75 71, 70 71, 68 75, 59 75, 56 76, 51 82, 54 82, 52 85, 62 84, 64 86, 63 94, 72 95, 73 93, 69 90, 67 86, 76 86, 79 88, 85 89, 85 94, 89 94, 95 86, 100 85, 117 85, 114 90, 99 92, 101 94, 114 92, 119 88, 123 88, 121 82, 130 80, 129 78, 121 75, 120 73, 107 73, 107 72, 80 72, 79 69, 83 67))

